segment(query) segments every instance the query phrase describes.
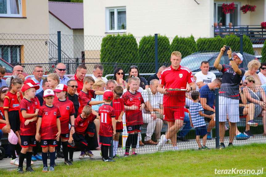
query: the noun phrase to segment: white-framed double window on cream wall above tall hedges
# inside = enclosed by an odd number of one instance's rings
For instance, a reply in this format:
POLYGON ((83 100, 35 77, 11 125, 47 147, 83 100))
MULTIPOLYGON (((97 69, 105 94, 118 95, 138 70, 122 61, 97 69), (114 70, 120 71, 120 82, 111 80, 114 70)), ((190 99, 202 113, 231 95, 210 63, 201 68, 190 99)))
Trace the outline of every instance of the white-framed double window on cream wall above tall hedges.
POLYGON ((105 11, 107 33, 126 32, 126 8, 108 7, 105 11))

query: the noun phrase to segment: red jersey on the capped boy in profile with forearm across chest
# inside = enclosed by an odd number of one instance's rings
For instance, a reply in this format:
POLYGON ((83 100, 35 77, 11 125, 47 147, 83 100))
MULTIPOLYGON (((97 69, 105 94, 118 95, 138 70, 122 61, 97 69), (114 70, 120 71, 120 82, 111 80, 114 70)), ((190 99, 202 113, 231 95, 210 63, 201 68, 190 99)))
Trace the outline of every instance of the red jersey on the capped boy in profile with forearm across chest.
MULTIPOLYGON (((35 102, 29 101, 27 99, 22 99, 20 104, 19 104, 19 110, 20 112, 22 110, 25 110, 27 114, 34 114, 37 105, 35 102)), ((32 119, 33 117, 30 118, 24 118, 21 114, 21 119, 20 119, 20 135, 36 135, 36 121, 33 121, 29 123, 28 125, 25 125, 25 121, 27 119, 32 119)))

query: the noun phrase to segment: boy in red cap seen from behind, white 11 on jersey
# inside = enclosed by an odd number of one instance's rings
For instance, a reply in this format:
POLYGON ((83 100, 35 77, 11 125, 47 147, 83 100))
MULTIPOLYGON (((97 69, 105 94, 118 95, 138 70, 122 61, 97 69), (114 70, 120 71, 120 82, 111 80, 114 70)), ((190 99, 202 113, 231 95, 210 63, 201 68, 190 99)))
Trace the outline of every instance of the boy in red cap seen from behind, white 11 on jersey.
POLYGON ((106 90, 104 92, 104 105, 99 108, 100 116, 100 130, 99 140, 102 151, 102 157, 104 162, 115 162, 108 157, 108 149, 112 143, 113 135, 116 135, 116 113, 115 109, 111 107, 113 101, 113 92, 106 90))

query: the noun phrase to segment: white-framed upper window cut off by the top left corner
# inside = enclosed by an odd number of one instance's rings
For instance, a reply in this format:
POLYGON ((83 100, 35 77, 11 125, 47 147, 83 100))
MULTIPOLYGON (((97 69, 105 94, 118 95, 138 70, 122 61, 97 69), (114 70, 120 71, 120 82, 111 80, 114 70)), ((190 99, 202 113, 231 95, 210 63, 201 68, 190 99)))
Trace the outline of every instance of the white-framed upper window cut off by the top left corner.
POLYGON ((22 17, 21 0, 0 0, 0 17, 22 17))

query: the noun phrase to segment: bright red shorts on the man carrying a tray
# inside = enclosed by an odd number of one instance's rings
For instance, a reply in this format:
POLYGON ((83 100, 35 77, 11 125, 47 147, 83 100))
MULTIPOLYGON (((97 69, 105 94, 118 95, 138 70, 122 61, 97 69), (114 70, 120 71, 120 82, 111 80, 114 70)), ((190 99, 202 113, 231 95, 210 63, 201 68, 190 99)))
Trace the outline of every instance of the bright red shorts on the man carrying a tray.
POLYGON ((164 107, 163 109, 163 120, 168 122, 174 122, 177 119, 184 120, 184 107, 164 107))

